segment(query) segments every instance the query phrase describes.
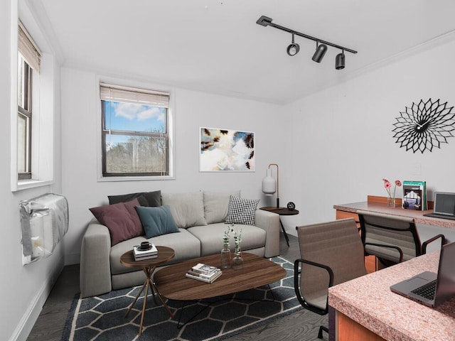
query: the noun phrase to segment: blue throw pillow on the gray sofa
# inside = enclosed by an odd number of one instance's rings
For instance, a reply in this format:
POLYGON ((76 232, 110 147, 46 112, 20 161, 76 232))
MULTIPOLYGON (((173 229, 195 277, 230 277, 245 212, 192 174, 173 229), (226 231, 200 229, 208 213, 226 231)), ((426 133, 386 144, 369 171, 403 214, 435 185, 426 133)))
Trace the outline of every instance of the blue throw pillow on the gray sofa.
POLYGON ((136 206, 136 210, 147 238, 178 232, 178 227, 173 220, 169 206, 136 206))

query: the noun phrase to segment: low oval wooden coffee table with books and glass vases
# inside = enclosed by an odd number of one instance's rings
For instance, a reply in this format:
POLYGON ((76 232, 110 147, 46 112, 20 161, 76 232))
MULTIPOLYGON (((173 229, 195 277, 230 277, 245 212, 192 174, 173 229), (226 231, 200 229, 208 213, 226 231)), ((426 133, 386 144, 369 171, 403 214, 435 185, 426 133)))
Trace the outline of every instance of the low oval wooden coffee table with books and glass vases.
POLYGON ((221 266, 219 254, 191 259, 159 269, 154 274, 154 283, 162 296, 171 300, 183 301, 184 304, 185 301, 199 301, 258 288, 279 281, 286 276, 286 270, 282 266, 264 259, 264 257, 244 252, 242 258, 243 269, 223 269, 223 274, 213 283, 186 278, 185 274, 198 263, 219 268, 221 266))

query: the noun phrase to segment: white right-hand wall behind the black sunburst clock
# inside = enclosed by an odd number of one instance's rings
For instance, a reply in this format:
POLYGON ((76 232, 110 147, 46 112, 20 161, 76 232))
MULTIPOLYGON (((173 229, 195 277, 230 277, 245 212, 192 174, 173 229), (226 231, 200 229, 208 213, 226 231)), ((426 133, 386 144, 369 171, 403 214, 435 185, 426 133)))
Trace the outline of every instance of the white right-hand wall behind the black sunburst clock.
POLYGON ((452 38, 287 106, 298 156, 289 190, 300 210, 287 229, 333 220, 333 205, 385 196, 382 178, 426 180, 430 198, 455 192, 454 137, 424 153, 405 151, 392 137, 395 117, 413 102, 431 97, 455 106, 454 54, 452 38))

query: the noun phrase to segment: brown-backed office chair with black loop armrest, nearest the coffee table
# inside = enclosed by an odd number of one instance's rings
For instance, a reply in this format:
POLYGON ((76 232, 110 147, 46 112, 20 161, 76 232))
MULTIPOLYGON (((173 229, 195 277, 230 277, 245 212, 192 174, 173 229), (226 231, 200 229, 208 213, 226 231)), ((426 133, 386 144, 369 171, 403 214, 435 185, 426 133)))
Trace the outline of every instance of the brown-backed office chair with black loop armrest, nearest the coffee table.
MULTIPOLYGON (((301 259, 294 261, 294 289, 304 308, 328 313, 328 288, 366 274, 363 245, 353 218, 298 226, 301 259)), ((325 326, 319 327, 318 337, 325 326)))

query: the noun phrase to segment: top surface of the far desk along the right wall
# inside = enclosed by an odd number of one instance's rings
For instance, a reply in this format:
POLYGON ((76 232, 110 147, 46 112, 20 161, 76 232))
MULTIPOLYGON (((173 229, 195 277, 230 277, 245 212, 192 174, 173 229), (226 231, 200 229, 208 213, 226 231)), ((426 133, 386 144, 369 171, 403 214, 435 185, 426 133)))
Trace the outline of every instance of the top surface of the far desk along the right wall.
POLYGON ((433 210, 416 211, 405 210, 401 207, 387 207, 387 204, 381 202, 352 202, 350 204, 333 205, 335 210, 357 213, 358 210, 386 213, 387 215, 399 215, 402 217, 412 217, 417 224, 427 224, 440 227, 455 229, 455 220, 439 219, 433 217, 424 217, 425 213, 431 213, 433 210))

